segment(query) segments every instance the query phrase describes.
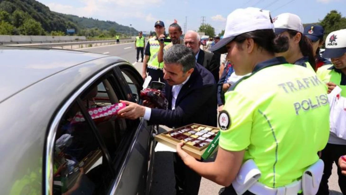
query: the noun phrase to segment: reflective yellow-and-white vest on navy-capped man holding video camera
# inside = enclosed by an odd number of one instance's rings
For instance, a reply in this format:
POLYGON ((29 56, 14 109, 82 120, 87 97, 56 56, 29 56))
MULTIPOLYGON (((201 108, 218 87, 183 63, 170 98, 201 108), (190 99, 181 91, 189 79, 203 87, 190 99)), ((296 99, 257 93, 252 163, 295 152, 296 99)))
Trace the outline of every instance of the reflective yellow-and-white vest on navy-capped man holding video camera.
MULTIPOLYGON (((169 39, 170 37, 166 37, 166 39, 169 39)), ((151 68, 151 69, 163 69, 163 62, 159 63, 157 60, 157 54, 158 54, 158 50, 160 50, 160 44, 158 43, 158 40, 156 40, 156 36, 154 36, 153 38, 149 39, 148 41, 149 44, 149 48, 150 48, 150 57, 149 57, 149 61, 148 61, 148 66, 147 68, 151 68)), ((169 42, 165 42, 165 45, 170 44, 169 42)))

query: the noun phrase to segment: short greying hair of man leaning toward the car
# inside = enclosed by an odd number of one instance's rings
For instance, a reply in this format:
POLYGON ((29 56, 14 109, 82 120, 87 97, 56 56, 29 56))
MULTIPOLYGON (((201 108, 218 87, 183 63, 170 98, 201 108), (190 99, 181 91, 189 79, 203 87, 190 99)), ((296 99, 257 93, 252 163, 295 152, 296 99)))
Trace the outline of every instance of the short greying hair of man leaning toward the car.
POLYGON ((193 51, 184 45, 175 44, 163 54, 165 63, 179 63, 183 66, 183 72, 195 68, 196 57, 193 51))

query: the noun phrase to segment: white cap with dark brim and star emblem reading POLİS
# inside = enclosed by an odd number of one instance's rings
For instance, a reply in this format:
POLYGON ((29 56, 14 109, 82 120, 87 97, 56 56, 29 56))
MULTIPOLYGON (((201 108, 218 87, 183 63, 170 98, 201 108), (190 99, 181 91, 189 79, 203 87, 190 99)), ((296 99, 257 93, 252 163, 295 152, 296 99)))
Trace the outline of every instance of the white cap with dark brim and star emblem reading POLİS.
POLYGON ((335 58, 346 53, 346 29, 329 33, 326 38, 326 50, 322 57, 335 58))

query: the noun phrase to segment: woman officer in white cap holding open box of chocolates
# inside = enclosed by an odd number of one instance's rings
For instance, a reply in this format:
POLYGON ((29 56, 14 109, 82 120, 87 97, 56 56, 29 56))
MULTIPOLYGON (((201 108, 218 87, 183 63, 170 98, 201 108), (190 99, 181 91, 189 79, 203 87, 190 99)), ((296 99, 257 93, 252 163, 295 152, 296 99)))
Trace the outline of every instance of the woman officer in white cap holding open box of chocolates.
POLYGON ((317 152, 329 133, 326 86, 315 72, 274 56, 273 28, 266 10, 228 15, 224 38, 211 50, 228 52, 237 75, 252 74, 225 94, 215 162, 195 160, 183 143, 176 148, 191 169, 229 186, 222 194, 292 195, 302 188, 314 194, 322 177, 317 152), (312 176, 304 174, 307 169, 312 176))

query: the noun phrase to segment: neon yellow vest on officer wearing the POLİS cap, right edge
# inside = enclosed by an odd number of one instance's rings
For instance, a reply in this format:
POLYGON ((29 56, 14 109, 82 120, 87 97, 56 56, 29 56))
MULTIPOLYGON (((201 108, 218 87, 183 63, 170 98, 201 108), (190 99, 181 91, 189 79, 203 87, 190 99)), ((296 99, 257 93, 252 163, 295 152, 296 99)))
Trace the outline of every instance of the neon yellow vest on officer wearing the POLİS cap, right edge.
POLYGON ((341 82, 341 73, 336 72, 335 70, 331 69, 333 65, 324 65, 317 69, 317 76, 319 79, 327 82, 333 82, 335 85, 339 86, 342 91, 340 93, 341 96, 346 97, 346 86, 340 85, 341 82))

